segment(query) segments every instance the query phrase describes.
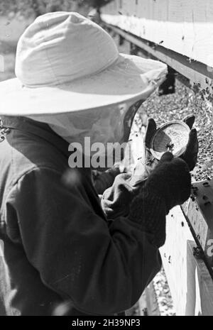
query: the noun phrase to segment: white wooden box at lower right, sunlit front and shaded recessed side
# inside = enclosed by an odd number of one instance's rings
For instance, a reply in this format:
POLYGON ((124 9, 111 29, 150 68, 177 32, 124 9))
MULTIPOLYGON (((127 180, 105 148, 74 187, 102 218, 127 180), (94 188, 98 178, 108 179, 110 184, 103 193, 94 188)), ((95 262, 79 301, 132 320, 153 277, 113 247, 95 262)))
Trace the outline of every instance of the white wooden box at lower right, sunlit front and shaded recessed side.
POLYGON ((167 239, 160 248, 177 315, 213 315, 213 282, 203 260, 193 255, 192 233, 180 207, 167 216, 167 239))

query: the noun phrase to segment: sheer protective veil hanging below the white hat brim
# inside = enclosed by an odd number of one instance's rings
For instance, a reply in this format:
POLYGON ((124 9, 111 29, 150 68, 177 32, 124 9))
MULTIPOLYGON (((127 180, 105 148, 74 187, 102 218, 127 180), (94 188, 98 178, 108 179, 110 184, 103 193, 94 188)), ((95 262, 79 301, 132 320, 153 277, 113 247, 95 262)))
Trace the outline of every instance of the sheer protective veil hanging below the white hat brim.
POLYGON ((48 123, 55 133, 73 144, 84 156, 91 158, 95 154, 98 161, 91 163, 91 167, 104 167, 104 170, 124 158, 131 123, 141 103, 136 101, 132 104, 131 101, 104 109, 75 111, 40 119, 36 116, 34 119, 48 123))

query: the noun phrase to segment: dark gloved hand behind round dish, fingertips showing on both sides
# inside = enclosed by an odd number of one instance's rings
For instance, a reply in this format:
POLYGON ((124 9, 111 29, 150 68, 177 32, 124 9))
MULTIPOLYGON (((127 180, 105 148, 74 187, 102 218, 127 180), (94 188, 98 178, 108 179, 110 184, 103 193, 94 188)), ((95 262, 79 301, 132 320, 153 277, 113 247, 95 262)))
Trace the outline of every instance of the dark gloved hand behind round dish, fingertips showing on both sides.
MULTIPOLYGON (((195 116, 189 115, 183 119, 183 122, 187 124, 190 128, 190 137, 187 143, 187 148, 185 153, 180 156, 187 163, 190 171, 192 171, 197 163, 197 153, 198 153, 198 140, 197 140, 197 131, 196 128, 192 128, 195 123, 195 116)), ((146 136, 145 136, 145 148, 146 148, 146 174, 147 176, 151 173, 153 168, 158 164, 158 160, 153 158, 151 154, 151 140, 157 131, 157 126, 154 119, 148 119, 148 124, 146 128, 146 136)))

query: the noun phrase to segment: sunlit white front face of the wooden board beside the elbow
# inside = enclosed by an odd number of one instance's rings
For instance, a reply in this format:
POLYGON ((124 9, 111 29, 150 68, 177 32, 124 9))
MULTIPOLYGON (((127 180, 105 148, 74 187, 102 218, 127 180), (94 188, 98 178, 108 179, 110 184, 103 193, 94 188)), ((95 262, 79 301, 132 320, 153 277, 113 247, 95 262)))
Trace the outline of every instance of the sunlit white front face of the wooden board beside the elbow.
POLYGON ((175 207, 167 216, 166 241, 160 248, 160 255, 177 315, 194 314, 194 307, 188 303, 192 294, 188 292, 186 295, 187 240, 193 241, 192 233, 180 207, 175 207))

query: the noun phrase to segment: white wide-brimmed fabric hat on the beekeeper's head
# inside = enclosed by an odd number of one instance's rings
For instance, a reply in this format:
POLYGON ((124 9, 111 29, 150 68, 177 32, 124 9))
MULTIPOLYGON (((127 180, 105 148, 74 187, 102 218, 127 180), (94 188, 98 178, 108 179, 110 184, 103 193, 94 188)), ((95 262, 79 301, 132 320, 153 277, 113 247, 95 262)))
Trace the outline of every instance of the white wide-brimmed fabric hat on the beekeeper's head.
POLYGON ((167 73, 119 54, 111 36, 73 12, 46 13, 18 40, 16 78, 0 83, 0 115, 40 116, 146 99, 167 73))

